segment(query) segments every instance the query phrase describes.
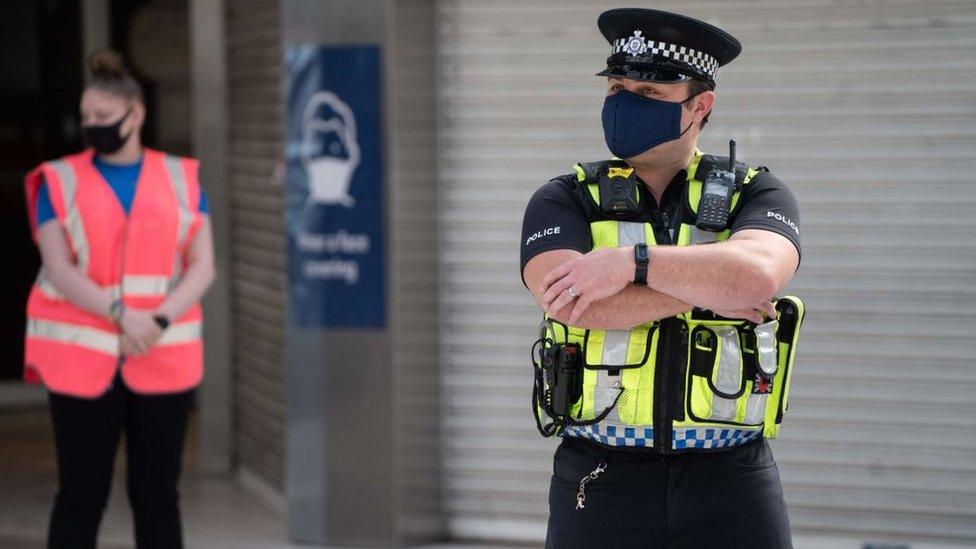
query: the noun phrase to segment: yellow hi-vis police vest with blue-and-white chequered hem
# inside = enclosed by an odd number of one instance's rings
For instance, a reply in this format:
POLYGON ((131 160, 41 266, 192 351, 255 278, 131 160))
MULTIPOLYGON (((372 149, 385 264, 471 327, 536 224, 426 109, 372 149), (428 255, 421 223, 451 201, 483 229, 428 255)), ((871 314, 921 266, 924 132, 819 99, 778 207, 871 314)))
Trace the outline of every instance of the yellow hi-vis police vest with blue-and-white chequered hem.
MULTIPOLYGON (((574 167, 577 197, 592 200, 593 212, 600 211, 595 177, 599 164, 574 167)), ((677 234, 667 233, 674 235, 673 242, 657 242, 651 223, 596 214, 590 219, 593 249, 638 243, 688 246, 727 239, 729 230, 704 231, 694 219, 705 176, 712 167, 727 164, 726 158, 695 151, 687 169, 686 208, 679 204, 675 216, 680 219, 670 223, 677 234), (683 215, 685 210, 691 213, 683 215)), ((742 187, 762 170, 737 164, 730 212, 736 211, 742 187)), ((653 253, 651 257, 653 261, 653 253)), ((630 330, 567 326, 547 315, 543 338, 578 344, 583 362, 582 396, 572 404, 571 417, 553 418, 554 432, 665 452, 775 438, 789 397, 804 316, 803 302, 795 296, 777 299, 776 308, 777 318, 762 324, 695 308, 630 330)), ((537 414, 543 413, 538 402, 534 405, 537 414)))

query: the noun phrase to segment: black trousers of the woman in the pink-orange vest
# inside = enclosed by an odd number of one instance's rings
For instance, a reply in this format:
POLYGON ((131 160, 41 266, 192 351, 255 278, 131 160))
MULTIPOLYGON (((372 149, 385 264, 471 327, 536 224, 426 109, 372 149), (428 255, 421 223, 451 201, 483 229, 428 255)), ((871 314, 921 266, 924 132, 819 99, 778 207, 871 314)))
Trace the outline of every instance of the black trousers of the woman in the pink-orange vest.
POLYGON ((120 374, 97 399, 48 392, 58 458, 49 549, 94 549, 123 430, 136 547, 183 547, 177 482, 193 393, 139 395, 120 374))

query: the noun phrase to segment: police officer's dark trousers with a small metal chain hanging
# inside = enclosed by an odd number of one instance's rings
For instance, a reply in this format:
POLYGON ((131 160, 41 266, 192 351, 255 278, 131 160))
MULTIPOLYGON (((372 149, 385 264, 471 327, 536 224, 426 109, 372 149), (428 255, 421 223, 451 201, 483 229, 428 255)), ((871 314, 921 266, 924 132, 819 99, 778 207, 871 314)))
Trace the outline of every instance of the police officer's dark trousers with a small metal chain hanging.
POLYGON ((550 549, 793 547, 779 471, 765 439, 662 455, 566 437, 549 489, 550 549), (606 471, 580 480, 601 462, 606 471))

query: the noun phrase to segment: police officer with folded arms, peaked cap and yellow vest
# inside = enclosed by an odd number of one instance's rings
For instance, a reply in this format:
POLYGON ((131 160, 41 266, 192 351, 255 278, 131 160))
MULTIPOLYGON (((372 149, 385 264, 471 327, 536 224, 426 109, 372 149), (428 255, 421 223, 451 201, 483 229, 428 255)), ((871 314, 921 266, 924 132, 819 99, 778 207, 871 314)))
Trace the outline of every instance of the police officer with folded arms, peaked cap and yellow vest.
MULTIPOLYGON (((568 419, 539 425, 562 436, 546 546, 791 547, 766 438, 802 320, 802 302, 775 298, 799 266, 799 211, 769 170, 696 146, 741 45, 650 9, 598 25, 616 158, 543 185, 522 227, 543 340, 584 365, 568 419)), ((552 387, 536 389, 548 414, 552 387)))

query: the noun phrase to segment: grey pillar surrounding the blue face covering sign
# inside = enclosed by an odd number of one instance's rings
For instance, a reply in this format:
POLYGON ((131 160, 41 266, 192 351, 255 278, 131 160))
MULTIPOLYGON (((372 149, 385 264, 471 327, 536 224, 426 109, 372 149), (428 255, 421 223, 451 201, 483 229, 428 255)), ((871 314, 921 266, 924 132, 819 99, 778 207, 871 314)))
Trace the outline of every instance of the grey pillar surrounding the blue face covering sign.
MULTIPOLYGON (((382 329, 286 326, 286 495, 292 541, 389 547, 441 536, 436 302, 428 307, 430 299, 436 300, 436 254, 428 253, 429 259, 418 263, 413 251, 418 244, 405 245, 403 240, 423 233, 436 247, 435 155, 433 146, 427 147, 429 159, 426 153, 418 154, 403 167, 397 158, 407 141, 415 146, 418 139, 427 142, 430 137, 434 143, 435 71, 432 64, 425 65, 429 82, 417 86, 417 74, 400 72, 402 64, 416 63, 407 51, 413 49, 416 56, 416 48, 397 44, 398 17, 409 13, 410 35, 429 37, 417 47, 433 57, 433 7, 433 0, 282 2, 285 48, 322 44, 381 49, 388 296, 388 325, 382 329), (417 25, 429 26, 431 34, 417 25), (406 108, 401 105, 401 76, 411 86, 410 99, 424 105, 420 116, 429 109, 430 120, 403 124, 418 127, 398 124, 406 108), (419 173, 426 183, 400 189, 401 172, 410 177, 419 173), (425 193, 429 197, 418 204, 425 193), (411 236, 404 237, 406 227, 411 236), (429 273, 430 287, 426 282, 411 286, 398 278, 407 268, 429 273), (422 322, 430 322, 428 329, 416 326, 418 302, 425 309, 422 322), (403 314, 402 306, 411 307, 413 316, 403 314), (410 335, 421 330, 433 334, 429 342, 419 341, 426 335, 410 335), (404 339, 430 348, 433 358, 407 359, 404 355, 410 351, 399 347, 404 339), (424 404, 418 406, 418 400, 424 404)), ((413 108, 411 114, 418 118, 413 108)))

